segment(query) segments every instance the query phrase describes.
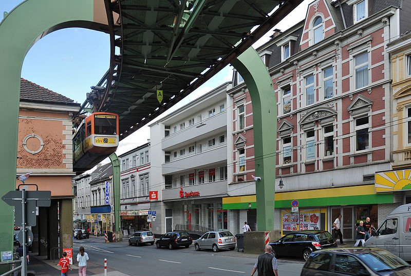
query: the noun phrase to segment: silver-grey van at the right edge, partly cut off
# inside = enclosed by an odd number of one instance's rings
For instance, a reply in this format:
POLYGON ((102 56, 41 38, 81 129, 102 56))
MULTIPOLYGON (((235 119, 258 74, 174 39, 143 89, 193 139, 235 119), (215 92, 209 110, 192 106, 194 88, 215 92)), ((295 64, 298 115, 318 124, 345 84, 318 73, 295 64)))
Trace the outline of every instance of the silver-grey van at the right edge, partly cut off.
POLYGON ((404 204, 387 216, 376 236, 365 241, 366 247, 390 251, 405 261, 411 261, 411 204, 404 204))

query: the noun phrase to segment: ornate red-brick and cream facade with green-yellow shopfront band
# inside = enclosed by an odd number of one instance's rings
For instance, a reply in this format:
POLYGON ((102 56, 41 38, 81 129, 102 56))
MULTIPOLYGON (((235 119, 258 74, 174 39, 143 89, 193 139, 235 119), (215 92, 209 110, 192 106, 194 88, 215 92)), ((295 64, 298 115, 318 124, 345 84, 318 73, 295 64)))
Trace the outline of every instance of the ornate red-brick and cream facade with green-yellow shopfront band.
MULTIPOLYGON (((359 220, 368 216, 379 226, 385 211, 404 202, 399 194, 377 193, 375 184, 376 172, 390 170, 393 161, 385 48, 411 27, 404 13, 411 3, 389 2, 314 1, 305 20, 258 49, 277 100, 274 229, 283 234, 331 231, 341 213, 344 239, 353 240, 359 220)), ((255 217, 252 102, 241 81, 236 72, 229 91, 233 165, 230 197, 223 198, 233 232, 255 217)))

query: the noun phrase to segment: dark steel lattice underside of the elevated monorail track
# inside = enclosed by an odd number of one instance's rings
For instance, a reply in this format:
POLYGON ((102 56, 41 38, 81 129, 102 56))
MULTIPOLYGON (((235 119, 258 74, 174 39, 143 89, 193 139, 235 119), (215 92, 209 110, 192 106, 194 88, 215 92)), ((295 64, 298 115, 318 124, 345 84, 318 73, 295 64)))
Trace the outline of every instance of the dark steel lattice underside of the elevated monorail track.
POLYGON ((301 2, 117 0, 107 4, 110 69, 96 86, 104 87, 104 92, 95 111, 119 114, 123 139, 210 79, 301 2))

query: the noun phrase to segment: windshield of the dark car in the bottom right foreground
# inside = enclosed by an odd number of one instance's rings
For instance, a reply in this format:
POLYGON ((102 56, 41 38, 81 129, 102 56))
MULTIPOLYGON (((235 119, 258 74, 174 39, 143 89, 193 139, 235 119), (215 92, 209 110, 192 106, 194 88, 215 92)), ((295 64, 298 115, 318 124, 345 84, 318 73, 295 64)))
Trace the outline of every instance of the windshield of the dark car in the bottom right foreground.
POLYGON ((400 267, 409 266, 408 263, 396 255, 383 250, 370 251, 358 257, 373 271, 389 271, 400 267))

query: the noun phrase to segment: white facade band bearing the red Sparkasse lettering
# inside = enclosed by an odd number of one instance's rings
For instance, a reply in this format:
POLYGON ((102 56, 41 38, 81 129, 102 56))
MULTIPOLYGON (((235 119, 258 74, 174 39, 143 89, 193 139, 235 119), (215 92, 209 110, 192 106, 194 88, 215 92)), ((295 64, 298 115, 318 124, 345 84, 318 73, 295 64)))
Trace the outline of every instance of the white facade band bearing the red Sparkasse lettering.
POLYGON ((225 197, 227 196, 227 180, 163 189, 161 193, 163 201, 194 200, 204 197, 225 197), (180 188, 183 189, 184 197, 180 196, 180 188), (185 197, 185 193, 189 192, 198 192, 198 195, 195 193, 195 196, 185 197))

